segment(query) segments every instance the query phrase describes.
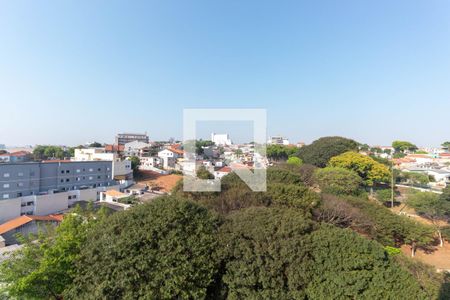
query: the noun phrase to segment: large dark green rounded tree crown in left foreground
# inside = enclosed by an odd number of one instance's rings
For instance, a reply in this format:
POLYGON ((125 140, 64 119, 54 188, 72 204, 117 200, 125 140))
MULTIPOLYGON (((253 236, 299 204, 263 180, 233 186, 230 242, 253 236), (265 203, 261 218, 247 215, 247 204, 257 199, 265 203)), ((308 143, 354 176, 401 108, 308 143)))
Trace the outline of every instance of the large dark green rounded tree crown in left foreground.
POLYGON ((218 220, 170 197, 116 213, 87 238, 67 299, 200 299, 216 272, 218 220))

